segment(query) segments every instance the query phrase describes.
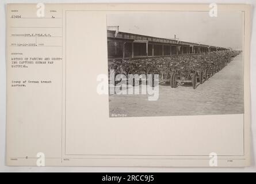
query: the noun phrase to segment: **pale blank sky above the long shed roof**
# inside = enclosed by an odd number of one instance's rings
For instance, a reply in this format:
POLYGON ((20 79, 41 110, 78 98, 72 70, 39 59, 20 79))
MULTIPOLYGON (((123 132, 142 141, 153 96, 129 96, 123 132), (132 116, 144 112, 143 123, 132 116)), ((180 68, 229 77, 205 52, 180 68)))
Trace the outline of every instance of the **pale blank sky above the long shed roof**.
POLYGON ((107 15, 108 26, 119 26, 120 32, 189 41, 217 47, 242 49, 243 13, 208 11, 115 13, 107 15))

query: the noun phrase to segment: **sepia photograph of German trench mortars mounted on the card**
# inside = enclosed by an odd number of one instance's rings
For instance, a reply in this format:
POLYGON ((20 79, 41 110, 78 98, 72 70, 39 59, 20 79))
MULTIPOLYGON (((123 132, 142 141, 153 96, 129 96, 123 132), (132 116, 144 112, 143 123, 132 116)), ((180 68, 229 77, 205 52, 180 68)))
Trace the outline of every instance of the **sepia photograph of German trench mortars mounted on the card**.
POLYGON ((107 14, 109 117, 243 114, 243 12, 107 14))

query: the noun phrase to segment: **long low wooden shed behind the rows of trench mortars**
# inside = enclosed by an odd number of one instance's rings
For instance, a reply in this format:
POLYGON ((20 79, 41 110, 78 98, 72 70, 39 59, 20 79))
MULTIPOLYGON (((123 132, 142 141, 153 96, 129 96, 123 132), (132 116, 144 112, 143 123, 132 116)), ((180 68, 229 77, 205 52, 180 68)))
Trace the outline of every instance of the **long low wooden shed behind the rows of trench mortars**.
POLYGON ((154 57, 227 50, 198 43, 107 30, 108 58, 154 57))

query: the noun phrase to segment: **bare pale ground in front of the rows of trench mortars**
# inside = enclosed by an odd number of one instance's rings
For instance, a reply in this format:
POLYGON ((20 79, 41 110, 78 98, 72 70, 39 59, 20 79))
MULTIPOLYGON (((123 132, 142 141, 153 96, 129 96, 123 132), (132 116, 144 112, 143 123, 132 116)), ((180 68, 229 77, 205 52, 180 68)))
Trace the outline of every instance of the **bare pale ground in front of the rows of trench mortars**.
POLYGON ((241 114, 243 109, 242 53, 208 81, 197 86, 159 86, 157 101, 147 95, 110 95, 110 117, 241 114))

